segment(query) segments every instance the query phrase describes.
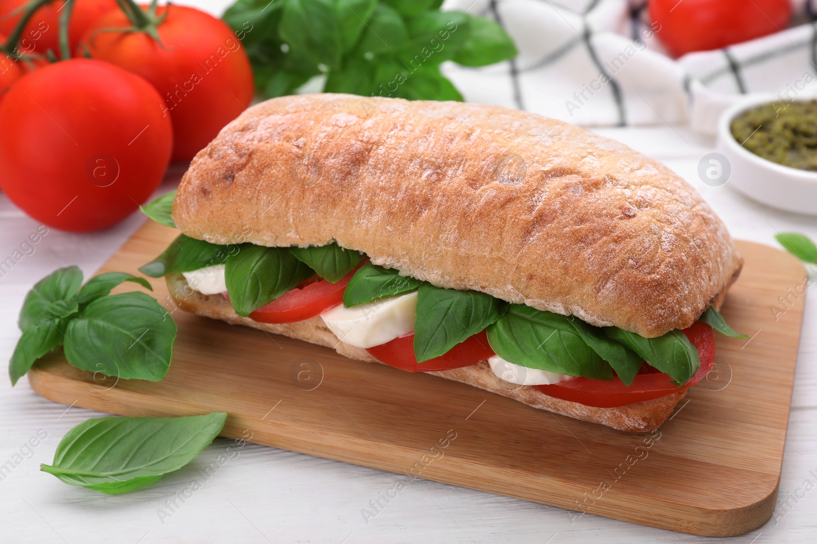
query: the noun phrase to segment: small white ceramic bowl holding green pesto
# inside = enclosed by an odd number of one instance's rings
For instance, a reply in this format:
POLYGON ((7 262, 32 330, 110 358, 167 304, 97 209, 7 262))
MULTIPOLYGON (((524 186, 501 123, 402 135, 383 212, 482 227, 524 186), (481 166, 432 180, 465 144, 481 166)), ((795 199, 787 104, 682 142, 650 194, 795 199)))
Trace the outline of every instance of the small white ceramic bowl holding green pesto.
MULTIPOLYGON (((758 157, 734 139, 730 124, 747 109, 779 100, 763 95, 734 104, 718 121, 717 151, 731 166, 729 184, 752 197, 781 210, 817 215, 817 172, 782 166, 758 157)), ((804 99, 809 100, 809 99, 804 99)))

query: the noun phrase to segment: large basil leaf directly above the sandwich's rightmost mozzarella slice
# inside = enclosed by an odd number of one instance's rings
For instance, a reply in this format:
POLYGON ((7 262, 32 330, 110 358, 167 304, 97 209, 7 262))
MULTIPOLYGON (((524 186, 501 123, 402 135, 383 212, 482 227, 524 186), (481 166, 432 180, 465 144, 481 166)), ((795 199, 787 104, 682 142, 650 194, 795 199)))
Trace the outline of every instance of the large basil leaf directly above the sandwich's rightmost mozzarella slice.
POLYGON ((498 356, 515 365, 569 376, 613 379, 613 370, 576 332, 567 316, 511 304, 487 329, 498 356))

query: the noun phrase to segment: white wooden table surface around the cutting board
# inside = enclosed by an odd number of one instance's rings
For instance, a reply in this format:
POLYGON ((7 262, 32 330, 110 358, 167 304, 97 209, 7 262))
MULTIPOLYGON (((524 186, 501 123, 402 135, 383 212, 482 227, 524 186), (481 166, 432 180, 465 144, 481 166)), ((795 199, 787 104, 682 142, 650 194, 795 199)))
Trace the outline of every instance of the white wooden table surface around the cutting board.
MULTIPOLYGON (((214 13, 221 0, 195 3, 214 13)), ((729 188, 700 182, 699 160, 714 142, 684 128, 598 130, 663 161, 684 176, 725 220, 733 236, 777 245, 775 232, 795 230, 817 239, 817 219, 749 202, 729 188)), ((173 187, 174 167, 158 193, 173 187)), ((7 361, 20 332, 23 297, 42 276, 78 264, 86 277, 139 227, 135 214, 115 228, 92 234, 54 229, 7 275, 0 277, 0 360, 7 361)), ((16 250, 39 224, 0 195, 0 260, 16 250)), ((813 296, 814 289, 811 289, 813 296)), ((775 518, 727 542, 814 542, 817 534, 817 302, 806 303, 797 383, 775 518), (809 482, 809 484, 806 483, 809 482), (792 493, 789 495, 789 493, 792 493), (783 502, 788 500, 788 505, 783 502)), ((770 373, 775 361, 769 361, 770 373)), ((38 471, 51 462, 60 438, 92 410, 67 408, 37 396, 26 378, 11 388, 0 379, 0 542, 708 542, 593 515, 575 522, 570 512, 431 481, 417 480, 376 518, 361 510, 405 476, 355 467, 255 444, 240 450, 192 497, 179 493, 199 479, 228 443, 217 439, 199 458, 145 489, 109 496, 62 484, 38 471), (32 436, 47 434, 36 448, 32 436), (20 454, 21 457, 16 457, 20 454), (174 505, 175 503, 175 505, 174 505), (168 515, 169 514, 169 515, 168 515)), ((543 429, 547 432, 547 429, 543 429)), ((559 460, 555 459, 558 463, 559 460)), ((407 479, 406 479, 407 480, 407 479)))

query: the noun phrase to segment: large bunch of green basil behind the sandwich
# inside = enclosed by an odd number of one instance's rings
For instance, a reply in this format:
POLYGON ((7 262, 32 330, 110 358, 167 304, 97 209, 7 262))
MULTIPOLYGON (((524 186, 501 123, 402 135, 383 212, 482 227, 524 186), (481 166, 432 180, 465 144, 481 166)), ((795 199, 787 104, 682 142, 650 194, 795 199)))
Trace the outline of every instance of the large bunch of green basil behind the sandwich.
POLYGON ((516 56, 493 20, 440 11, 442 0, 239 0, 224 20, 242 41, 266 98, 325 74, 324 92, 462 100, 446 60, 484 66, 516 56))

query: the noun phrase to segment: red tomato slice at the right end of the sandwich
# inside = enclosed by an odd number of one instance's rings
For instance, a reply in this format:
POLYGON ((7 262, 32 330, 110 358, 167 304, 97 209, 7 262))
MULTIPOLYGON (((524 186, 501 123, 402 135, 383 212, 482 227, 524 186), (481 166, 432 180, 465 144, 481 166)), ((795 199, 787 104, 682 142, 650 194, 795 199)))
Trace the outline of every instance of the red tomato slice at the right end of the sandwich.
POLYGON ((566 382, 534 387, 545 395, 555 396, 557 399, 572 400, 581 405, 598 408, 632 405, 643 400, 658 399, 677 391, 684 391, 699 383, 712 370, 712 362, 715 360, 715 334, 712 333, 712 327, 701 321, 682 332, 698 349, 701 364, 698 372, 681 387, 673 384, 672 378, 663 372, 638 374, 629 386, 624 385, 621 378, 616 377, 612 380, 574 378, 566 382))

